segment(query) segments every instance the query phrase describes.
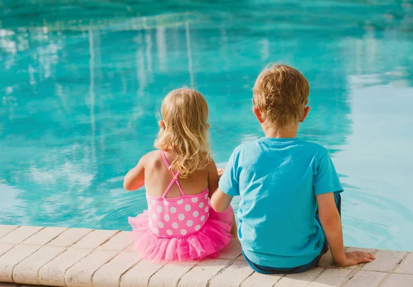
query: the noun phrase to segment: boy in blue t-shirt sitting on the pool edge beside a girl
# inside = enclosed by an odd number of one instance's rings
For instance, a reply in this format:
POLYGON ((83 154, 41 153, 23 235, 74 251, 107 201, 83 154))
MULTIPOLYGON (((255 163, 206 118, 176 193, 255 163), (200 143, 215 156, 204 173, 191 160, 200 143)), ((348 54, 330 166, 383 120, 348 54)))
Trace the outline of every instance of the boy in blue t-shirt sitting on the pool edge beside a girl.
POLYGON ((246 262, 259 273, 303 272, 319 265, 328 246, 337 266, 374 259, 344 252, 335 167, 324 147, 296 138, 310 111, 309 93, 293 67, 273 65, 258 76, 253 112, 265 137, 233 151, 211 199, 220 212, 241 196, 238 236, 246 262))

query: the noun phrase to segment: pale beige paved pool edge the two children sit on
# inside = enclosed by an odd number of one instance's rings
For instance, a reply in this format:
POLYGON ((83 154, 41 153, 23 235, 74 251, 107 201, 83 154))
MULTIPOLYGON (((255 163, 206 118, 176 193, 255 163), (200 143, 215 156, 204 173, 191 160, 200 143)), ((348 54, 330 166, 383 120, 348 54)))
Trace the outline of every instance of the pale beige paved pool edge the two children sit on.
POLYGON ((260 275, 242 258, 238 240, 218 259, 179 264, 145 262, 131 244, 126 231, 0 225, 0 287, 413 286, 413 253, 407 252, 363 249, 377 259, 349 268, 335 267, 327 254, 320 268, 306 273, 260 275))

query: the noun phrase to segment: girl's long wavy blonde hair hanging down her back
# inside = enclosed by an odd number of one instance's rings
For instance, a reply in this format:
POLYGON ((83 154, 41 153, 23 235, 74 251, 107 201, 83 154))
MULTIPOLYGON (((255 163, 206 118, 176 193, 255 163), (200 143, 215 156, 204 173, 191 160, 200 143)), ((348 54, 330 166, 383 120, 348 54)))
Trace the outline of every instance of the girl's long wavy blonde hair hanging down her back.
POLYGON ((170 169, 188 178, 193 171, 211 162, 208 143, 207 100, 195 89, 175 89, 162 101, 160 114, 165 128, 160 129, 155 147, 175 154, 170 169))

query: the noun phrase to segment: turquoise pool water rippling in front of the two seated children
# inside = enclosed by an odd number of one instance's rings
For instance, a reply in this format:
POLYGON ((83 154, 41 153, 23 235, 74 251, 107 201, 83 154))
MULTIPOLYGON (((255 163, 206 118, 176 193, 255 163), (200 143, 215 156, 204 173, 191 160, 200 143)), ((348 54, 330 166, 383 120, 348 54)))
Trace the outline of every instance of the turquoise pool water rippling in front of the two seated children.
POLYGON ((0 0, 0 224, 129 229, 165 94, 204 94, 224 166, 282 61, 310 81, 299 136, 330 150, 346 244, 413 250, 412 1, 94 2, 0 0))

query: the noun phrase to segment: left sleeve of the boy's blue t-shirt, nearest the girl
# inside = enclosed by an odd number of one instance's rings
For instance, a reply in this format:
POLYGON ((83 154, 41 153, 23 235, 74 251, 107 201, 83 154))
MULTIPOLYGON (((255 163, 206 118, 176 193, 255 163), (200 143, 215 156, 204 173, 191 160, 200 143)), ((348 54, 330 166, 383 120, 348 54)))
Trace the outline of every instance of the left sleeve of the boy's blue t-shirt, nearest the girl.
POLYGON ((237 174, 238 169, 238 153, 235 149, 228 163, 224 174, 220 178, 220 190, 230 196, 240 195, 240 184, 238 182, 239 176, 237 174))

